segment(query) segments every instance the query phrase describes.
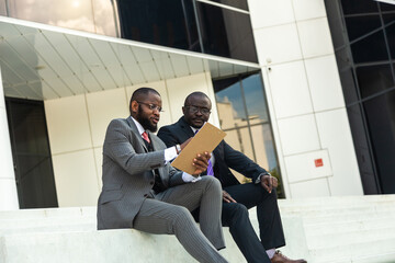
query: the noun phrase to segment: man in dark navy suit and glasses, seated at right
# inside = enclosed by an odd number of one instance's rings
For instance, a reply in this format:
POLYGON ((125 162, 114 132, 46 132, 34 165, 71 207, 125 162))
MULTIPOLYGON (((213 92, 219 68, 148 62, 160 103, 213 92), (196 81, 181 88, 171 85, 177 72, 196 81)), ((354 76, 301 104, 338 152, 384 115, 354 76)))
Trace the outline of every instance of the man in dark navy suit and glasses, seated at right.
MULTIPOLYGON (((168 147, 184 142, 208 121, 211 108, 212 104, 206 94, 191 93, 182 107, 183 116, 176 124, 161 127, 158 137, 168 147)), ((290 260, 275 251, 276 248, 285 245, 276 203, 275 178, 224 140, 213 151, 207 172, 211 170, 214 173, 211 175, 217 178, 223 186, 223 226, 229 227, 235 242, 248 262, 306 262, 290 260), (252 183, 240 184, 229 168, 250 178, 252 183), (248 217, 248 209, 255 206, 260 240, 248 217)))

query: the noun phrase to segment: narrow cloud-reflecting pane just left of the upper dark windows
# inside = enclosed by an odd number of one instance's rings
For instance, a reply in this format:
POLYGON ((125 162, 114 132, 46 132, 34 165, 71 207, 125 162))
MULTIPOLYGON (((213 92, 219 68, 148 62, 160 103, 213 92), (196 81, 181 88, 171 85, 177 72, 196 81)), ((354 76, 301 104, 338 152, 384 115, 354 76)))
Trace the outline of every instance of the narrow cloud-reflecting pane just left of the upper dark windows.
POLYGON ((97 34, 116 36, 115 7, 111 0, 92 0, 97 34))

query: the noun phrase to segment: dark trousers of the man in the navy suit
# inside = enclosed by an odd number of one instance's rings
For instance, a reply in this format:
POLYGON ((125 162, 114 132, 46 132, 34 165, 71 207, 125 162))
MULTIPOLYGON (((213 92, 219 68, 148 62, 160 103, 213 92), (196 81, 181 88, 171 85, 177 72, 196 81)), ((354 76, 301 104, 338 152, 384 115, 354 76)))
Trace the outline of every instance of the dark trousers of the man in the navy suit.
POLYGON ((247 183, 224 188, 237 203, 224 203, 222 221, 249 263, 268 262, 266 250, 285 245, 275 190, 269 194, 260 184, 247 183), (259 236, 248 217, 257 207, 259 236))

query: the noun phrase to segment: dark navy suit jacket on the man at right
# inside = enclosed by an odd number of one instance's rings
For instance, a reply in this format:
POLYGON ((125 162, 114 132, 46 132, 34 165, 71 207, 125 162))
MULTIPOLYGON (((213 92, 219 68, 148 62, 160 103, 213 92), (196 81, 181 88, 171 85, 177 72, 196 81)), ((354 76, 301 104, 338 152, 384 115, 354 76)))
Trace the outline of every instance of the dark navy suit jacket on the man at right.
MULTIPOLYGON (((193 130, 189 124, 181 117, 177 123, 168 126, 163 126, 158 132, 158 137, 168 146, 181 145, 190 137, 193 137, 193 130)), ((238 180, 230 172, 229 168, 241 173, 242 175, 256 181, 259 174, 266 172, 266 170, 259 167, 251 159, 246 157, 240 151, 233 149, 224 140, 213 151, 214 175, 221 181, 223 187, 239 184, 238 180)))

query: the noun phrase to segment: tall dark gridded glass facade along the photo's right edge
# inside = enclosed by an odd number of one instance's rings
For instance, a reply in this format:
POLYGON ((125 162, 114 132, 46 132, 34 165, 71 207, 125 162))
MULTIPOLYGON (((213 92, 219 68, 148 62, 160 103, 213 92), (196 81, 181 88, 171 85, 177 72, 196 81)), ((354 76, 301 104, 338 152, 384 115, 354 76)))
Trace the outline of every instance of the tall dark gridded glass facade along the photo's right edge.
POLYGON ((365 194, 395 193, 395 5, 326 0, 365 194))

